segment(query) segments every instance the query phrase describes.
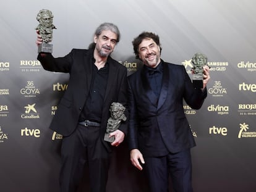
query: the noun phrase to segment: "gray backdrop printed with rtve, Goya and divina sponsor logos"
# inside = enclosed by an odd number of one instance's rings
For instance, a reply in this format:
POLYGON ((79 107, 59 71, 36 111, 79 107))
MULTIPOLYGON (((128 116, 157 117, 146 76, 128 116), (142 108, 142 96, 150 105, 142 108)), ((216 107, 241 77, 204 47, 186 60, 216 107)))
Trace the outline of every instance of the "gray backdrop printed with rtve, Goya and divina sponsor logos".
MULTIPOLYGON (((197 192, 256 191, 256 2, 183 0, 57 0, 1 2, 0 11, 0 191, 59 191, 62 136, 48 129, 67 74, 46 72, 36 61, 35 27, 40 9, 54 14, 53 55, 87 48, 95 28, 115 23, 121 42, 113 58, 129 75, 133 38, 160 35, 164 61, 190 73, 195 52, 208 57, 208 98, 184 111, 197 142, 192 149, 197 192)), ((88 189, 85 175, 79 191, 88 189)), ((127 143, 113 152, 108 191, 148 191, 143 173, 129 162, 127 143)))

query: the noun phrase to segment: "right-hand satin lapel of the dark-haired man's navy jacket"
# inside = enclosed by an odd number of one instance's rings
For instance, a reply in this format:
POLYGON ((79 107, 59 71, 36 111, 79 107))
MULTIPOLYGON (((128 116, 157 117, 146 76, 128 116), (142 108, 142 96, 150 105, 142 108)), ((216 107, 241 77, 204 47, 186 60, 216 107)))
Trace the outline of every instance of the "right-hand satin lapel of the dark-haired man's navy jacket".
POLYGON ((163 62, 163 81, 162 81, 160 96, 159 96, 159 99, 158 99, 157 109, 160 109, 160 107, 163 106, 164 101, 167 98, 168 86, 169 86, 169 69, 168 69, 168 64, 163 62))

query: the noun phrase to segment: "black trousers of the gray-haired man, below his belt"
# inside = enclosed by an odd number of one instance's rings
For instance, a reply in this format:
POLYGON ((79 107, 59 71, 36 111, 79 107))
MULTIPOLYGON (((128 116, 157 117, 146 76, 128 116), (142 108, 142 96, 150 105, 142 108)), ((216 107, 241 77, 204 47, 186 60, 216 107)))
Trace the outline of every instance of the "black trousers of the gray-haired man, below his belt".
POLYGON ((110 154, 100 140, 100 127, 77 125, 61 146, 61 192, 75 192, 88 164, 92 192, 105 192, 110 154))

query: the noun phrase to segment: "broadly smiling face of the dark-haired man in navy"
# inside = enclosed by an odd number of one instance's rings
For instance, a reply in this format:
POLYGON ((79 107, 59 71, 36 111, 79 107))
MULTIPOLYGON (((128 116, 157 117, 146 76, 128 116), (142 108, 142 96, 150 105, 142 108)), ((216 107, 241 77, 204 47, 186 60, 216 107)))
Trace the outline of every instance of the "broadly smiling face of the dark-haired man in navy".
POLYGON ((160 46, 151 38, 142 40, 142 43, 139 44, 138 52, 139 58, 148 67, 155 68, 160 64, 160 46))

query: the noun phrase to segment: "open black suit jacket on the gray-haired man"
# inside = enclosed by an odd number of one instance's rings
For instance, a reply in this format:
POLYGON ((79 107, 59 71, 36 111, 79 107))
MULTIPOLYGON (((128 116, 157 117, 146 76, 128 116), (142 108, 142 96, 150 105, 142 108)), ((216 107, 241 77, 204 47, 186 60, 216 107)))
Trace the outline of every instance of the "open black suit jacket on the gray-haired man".
MULTIPOLYGON (((72 49, 65 57, 54 58, 51 54, 44 57, 38 55, 38 61, 45 70, 51 72, 69 73, 69 85, 61 98, 58 110, 49 128, 69 136, 77 127, 80 112, 83 109, 90 91, 92 79, 93 50, 72 49)), ((101 138, 103 141, 106 124, 110 117, 109 107, 112 102, 120 102, 127 107, 127 69, 119 62, 108 57, 109 75, 101 117, 101 138)), ((126 116, 128 117, 127 110, 126 116)), ((127 134, 127 121, 122 123, 119 130, 127 134)), ((105 144, 107 142, 103 141, 105 144)), ((106 144, 109 149, 109 144, 106 144)))

